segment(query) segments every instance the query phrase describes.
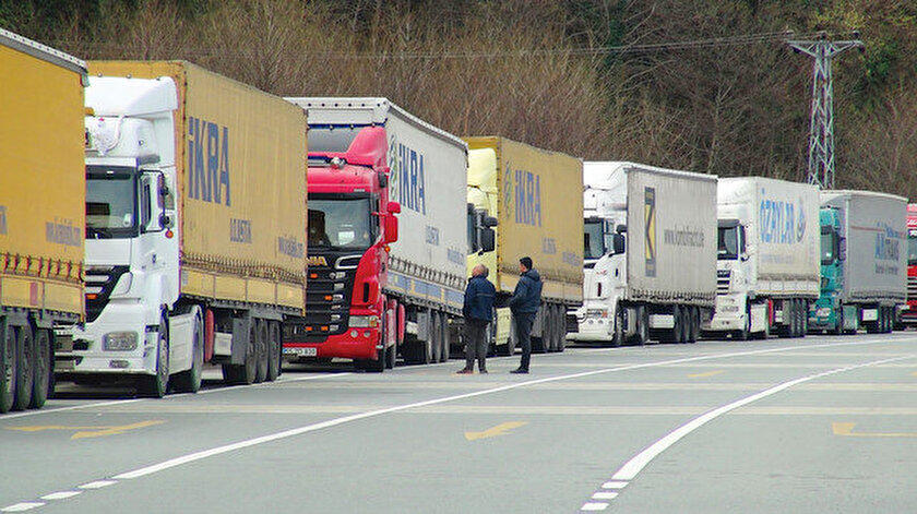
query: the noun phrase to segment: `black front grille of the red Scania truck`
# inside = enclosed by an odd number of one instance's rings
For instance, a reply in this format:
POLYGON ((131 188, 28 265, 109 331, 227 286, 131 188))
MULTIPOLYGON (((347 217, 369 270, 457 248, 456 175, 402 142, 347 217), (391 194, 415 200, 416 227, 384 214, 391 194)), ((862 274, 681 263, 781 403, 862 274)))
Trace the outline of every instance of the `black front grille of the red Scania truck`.
POLYGON ((347 332, 356 270, 309 266, 306 315, 284 324, 284 339, 320 343, 347 332))

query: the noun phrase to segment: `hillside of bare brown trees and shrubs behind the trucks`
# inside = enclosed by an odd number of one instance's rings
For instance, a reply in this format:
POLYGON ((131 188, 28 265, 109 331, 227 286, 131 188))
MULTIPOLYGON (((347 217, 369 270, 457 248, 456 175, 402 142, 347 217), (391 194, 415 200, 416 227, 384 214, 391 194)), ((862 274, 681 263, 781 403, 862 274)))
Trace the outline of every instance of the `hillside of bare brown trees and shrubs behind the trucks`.
POLYGON ((87 59, 188 59, 281 95, 388 96, 456 134, 587 159, 802 180, 811 60, 742 34, 849 34, 838 187, 917 198, 917 2, 0 0, 0 26, 87 59), (610 49, 609 49, 610 48, 610 49))

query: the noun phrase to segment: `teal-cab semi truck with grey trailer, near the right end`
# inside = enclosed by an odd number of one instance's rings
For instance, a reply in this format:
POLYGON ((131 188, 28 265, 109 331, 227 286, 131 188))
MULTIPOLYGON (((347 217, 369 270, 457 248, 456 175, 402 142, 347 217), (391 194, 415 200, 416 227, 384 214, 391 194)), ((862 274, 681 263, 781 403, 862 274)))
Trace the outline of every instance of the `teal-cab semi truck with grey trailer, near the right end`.
POLYGON ((821 296, 809 328, 892 332, 907 294, 907 199, 822 191, 821 205, 821 296))

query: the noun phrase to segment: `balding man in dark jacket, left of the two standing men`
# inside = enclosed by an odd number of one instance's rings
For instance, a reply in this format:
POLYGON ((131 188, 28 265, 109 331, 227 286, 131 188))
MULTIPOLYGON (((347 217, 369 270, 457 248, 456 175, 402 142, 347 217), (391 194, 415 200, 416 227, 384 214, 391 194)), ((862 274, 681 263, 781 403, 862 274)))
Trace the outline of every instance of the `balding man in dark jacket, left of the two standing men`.
POLYGON ((489 271, 484 264, 472 270, 472 278, 465 288, 465 304, 462 314, 465 316, 465 368, 461 374, 472 374, 475 370, 475 358, 478 371, 487 373, 487 325, 493 313, 493 298, 497 290, 487 279, 489 271))

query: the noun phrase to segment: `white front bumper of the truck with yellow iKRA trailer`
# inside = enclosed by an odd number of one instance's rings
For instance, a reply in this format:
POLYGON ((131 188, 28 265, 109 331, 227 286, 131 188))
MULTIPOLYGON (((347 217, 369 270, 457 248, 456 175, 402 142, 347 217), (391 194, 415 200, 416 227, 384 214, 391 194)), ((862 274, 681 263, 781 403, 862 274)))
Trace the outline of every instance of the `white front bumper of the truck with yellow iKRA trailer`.
POLYGON ((154 374, 158 324, 147 330, 144 320, 145 311, 140 302, 109 303, 92 323, 71 328, 74 349, 58 354, 56 358, 68 362, 61 371, 69 374, 154 374), (133 333, 135 347, 106 350, 104 337, 115 332, 133 333))

